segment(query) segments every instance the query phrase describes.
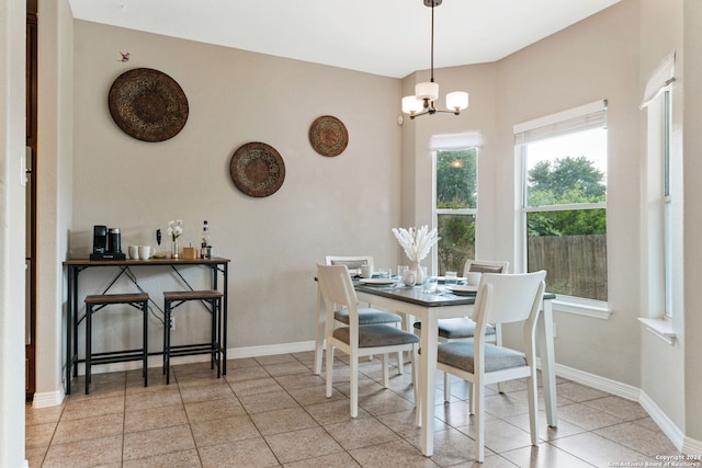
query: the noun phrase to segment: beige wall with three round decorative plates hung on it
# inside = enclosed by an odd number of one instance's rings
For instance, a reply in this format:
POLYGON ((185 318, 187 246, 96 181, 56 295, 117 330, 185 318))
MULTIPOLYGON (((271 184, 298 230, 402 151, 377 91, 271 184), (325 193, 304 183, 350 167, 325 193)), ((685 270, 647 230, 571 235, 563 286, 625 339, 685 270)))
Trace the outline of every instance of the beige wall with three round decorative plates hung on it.
MULTIPOLYGON (((155 244, 156 229, 166 233, 181 218, 181 246, 196 246, 208 220, 215 254, 233 260, 235 350, 314 339, 315 263, 326 254, 397 263, 398 80, 82 21, 75 45, 71 255, 89 253, 93 225, 120 227, 123 246, 155 244), (139 141, 110 116, 112 82, 137 67, 169 75, 188 96, 188 123, 172 139, 139 141), (308 138, 326 114, 349 132, 335 158, 315 152, 308 138), (229 176, 231 155, 249 141, 273 146, 285 161, 285 182, 269 197, 244 195, 229 176)), ((171 283, 154 282, 161 304, 171 283)), ((160 326, 151 323, 156 350, 160 326)))

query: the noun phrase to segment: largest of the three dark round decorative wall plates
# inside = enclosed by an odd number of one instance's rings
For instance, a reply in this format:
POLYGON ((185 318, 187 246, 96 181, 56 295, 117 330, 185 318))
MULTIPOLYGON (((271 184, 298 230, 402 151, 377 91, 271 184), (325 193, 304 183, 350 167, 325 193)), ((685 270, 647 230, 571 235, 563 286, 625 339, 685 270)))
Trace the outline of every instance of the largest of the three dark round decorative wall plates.
POLYGON ((135 68, 120 75, 107 96, 110 114, 127 135, 143 141, 174 137, 188 122, 188 98, 166 73, 135 68))

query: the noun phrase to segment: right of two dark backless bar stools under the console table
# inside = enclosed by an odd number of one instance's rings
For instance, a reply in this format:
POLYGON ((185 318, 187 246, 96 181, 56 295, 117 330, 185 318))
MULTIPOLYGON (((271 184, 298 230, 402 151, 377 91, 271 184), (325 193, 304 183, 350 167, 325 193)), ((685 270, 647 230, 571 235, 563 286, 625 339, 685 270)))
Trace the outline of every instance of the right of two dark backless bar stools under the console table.
POLYGON ((194 356, 197 354, 210 354, 211 367, 217 366, 217 378, 222 376, 222 298, 218 290, 171 290, 163 293, 163 373, 166 384, 170 384, 171 356, 194 356), (171 317, 173 309, 190 301, 199 300, 206 304, 207 312, 211 315, 211 338, 210 343, 179 344, 171 345, 171 317))

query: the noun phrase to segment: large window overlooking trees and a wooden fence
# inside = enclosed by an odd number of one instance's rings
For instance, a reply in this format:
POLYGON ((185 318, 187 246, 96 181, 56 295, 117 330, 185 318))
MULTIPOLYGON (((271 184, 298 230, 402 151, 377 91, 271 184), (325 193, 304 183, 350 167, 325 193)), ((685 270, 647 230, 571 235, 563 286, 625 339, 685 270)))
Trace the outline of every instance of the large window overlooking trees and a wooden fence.
POLYGON ((516 127, 525 270, 546 289, 607 301, 607 102, 516 127))

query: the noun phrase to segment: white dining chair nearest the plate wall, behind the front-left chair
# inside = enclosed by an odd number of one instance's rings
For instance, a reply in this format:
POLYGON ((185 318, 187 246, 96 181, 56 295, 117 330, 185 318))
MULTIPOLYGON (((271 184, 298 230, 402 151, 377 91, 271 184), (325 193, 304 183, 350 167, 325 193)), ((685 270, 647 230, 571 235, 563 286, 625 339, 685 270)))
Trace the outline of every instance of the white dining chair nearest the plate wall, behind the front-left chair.
MULTIPOLYGON (((360 269, 363 265, 373 265, 373 255, 356 255, 356 256, 326 255, 325 263, 327 265, 346 265, 347 269, 349 270, 349 273, 352 274, 351 272, 355 272, 358 269, 360 269)), ((319 294, 318 294, 317 303, 318 303, 317 313, 321 313, 319 294)), ((374 324, 374 323, 393 323, 396 327, 399 327, 401 326, 401 322, 403 322, 403 318, 399 315, 388 312, 385 310, 378 310, 372 307, 359 307, 358 310, 359 310, 359 324, 361 326, 374 324)), ((342 307, 335 306, 333 318, 335 318, 335 322, 340 326, 349 324, 349 312, 342 307)), ((317 375, 321 373, 321 353, 324 350, 324 336, 325 336, 325 330, 324 330, 325 321, 320 319, 322 318, 318 317, 317 333, 315 339, 316 341, 315 374, 317 375)), ((373 356, 369 356, 369 357, 372 358, 373 356)), ((398 374, 404 373, 404 364, 405 363, 403 358, 403 353, 398 353, 397 354, 397 373, 398 374)))

